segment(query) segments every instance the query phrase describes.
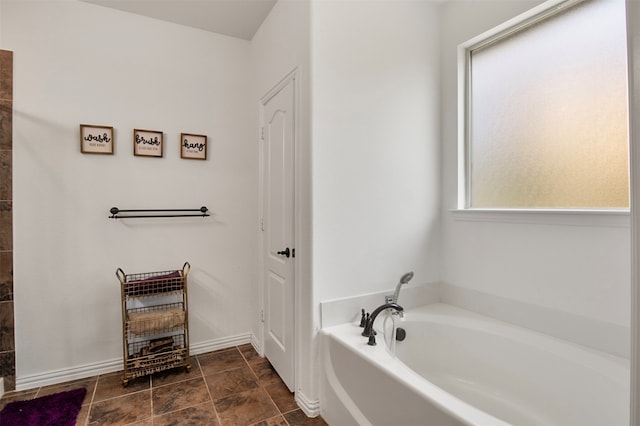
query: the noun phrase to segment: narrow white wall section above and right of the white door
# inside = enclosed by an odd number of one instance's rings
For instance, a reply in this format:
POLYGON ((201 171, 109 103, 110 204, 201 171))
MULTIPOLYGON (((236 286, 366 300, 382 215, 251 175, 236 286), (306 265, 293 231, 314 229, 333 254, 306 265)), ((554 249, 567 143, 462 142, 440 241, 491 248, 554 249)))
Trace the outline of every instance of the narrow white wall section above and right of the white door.
MULTIPOLYGON (((296 70, 299 133, 296 145, 296 399, 311 413, 317 404, 315 390, 313 318, 311 294, 311 50, 310 2, 280 0, 251 41, 254 80, 252 111, 256 117, 260 99, 285 76, 296 70)), ((257 164, 256 164, 257 166, 257 164)), ((256 218, 257 220, 257 218, 256 218)), ((259 271, 260 272, 260 271, 259 271)), ((256 282, 252 302, 256 315, 253 333, 262 342, 262 324, 257 313, 262 307, 263 289, 256 282)))

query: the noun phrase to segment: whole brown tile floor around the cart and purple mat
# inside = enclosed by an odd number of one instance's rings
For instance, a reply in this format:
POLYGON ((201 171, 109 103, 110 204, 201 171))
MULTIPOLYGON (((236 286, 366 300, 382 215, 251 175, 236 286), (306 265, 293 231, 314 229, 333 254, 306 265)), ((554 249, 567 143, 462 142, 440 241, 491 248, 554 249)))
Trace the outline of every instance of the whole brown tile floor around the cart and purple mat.
POLYGON ((192 356, 191 370, 169 370, 129 381, 122 373, 8 392, 8 402, 87 389, 77 425, 316 426, 282 379, 250 344, 192 356))

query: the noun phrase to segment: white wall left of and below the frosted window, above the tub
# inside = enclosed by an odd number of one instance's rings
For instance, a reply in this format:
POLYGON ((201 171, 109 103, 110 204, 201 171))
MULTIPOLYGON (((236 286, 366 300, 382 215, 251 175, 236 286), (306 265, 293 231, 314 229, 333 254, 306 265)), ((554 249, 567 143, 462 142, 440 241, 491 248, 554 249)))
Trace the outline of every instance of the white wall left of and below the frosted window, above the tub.
POLYGON ((539 3, 454 1, 443 5, 442 280, 628 327, 630 240, 624 218, 569 226, 455 220, 449 212, 457 207, 458 185, 456 46, 539 3))

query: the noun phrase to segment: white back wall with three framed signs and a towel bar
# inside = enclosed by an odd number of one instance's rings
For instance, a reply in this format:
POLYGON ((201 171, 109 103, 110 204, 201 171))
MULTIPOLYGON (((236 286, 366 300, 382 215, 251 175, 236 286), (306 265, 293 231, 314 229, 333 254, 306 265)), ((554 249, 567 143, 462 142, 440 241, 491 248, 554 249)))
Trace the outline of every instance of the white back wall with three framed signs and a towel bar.
MULTIPOLYGON (((250 44, 76 1, 2 2, 14 51, 17 381, 122 355, 116 268, 192 265, 191 343, 248 339, 257 280, 250 44), (115 128, 115 155, 81 154, 79 124, 115 128), (132 130, 164 132, 164 158, 132 130), (180 159, 181 132, 209 137, 180 159), (120 208, 207 219, 111 220, 120 208)), ((110 364, 109 364, 110 365, 110 364)))

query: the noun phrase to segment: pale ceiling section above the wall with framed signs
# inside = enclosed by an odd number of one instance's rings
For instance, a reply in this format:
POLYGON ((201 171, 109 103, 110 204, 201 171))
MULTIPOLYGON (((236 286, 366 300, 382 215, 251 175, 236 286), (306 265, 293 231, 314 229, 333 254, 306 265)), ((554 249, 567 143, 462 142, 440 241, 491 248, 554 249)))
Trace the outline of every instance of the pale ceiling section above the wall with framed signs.
POLYGON ((277 0, 82 0, 251 40, 277 0))

